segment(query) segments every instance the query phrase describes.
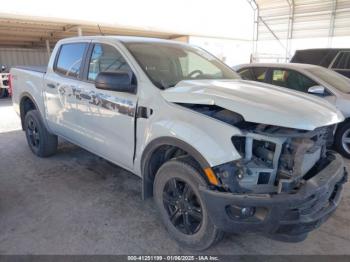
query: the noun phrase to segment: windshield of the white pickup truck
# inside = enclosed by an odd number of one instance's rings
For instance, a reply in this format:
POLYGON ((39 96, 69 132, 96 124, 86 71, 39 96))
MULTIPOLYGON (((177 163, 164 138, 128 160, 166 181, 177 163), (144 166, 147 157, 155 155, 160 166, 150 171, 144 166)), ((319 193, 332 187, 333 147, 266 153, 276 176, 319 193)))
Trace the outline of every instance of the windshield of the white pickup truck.
POLYGON ((151 81, 160 89, 190 79, 239 79, 240 76, 200 48, 174 43, 125 43, 151 81))

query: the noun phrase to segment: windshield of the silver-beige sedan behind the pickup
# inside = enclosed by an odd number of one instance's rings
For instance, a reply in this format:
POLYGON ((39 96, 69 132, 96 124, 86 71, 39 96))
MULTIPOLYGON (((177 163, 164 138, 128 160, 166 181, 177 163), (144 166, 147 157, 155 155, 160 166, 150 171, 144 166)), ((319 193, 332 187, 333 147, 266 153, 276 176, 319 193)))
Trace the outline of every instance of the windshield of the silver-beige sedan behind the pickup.
POLYGON ((349 78, 323 67, 313 67, 307 70, 340 92, 350 93, 349 78))

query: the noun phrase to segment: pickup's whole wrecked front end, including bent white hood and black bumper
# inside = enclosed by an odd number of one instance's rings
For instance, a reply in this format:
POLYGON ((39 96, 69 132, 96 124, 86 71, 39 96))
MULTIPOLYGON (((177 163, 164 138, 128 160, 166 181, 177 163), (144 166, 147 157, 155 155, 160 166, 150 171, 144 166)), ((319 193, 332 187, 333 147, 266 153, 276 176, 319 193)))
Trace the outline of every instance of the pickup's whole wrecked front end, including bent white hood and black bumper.
POLYGON ((199 188, 213 223, 224 231, 300 241, 339 204, 347 173, 327 145, 344 116, 322 99, 267 87, 191 80, 162 95, 232 126, 225 141, 235 160, 212 167, 219 185, 199 188))

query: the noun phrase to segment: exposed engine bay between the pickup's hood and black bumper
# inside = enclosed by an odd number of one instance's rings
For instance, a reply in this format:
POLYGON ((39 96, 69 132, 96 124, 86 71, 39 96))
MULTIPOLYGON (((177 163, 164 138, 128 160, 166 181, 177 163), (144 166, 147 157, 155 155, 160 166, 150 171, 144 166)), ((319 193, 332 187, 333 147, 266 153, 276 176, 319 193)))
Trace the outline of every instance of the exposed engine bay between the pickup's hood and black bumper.
POLYGON ((235 173, 236 181, 232 183, 224 170, 217 172, 225 190, 292 192, 329 162, 326 148, 332 144, 335 126, 298 130, 246 122, 241 115, 218 106, 182 105, 233 125, 242 132, 242 135, 232 137, 232 143, 242 157, 234 161, 230 171, 235 173))

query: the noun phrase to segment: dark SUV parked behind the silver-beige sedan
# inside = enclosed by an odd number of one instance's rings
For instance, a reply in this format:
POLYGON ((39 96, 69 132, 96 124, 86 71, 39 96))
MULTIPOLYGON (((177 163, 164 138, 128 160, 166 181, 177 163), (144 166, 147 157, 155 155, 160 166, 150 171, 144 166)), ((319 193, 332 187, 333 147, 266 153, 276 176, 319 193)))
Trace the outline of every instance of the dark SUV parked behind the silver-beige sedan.
POLYGON ((297 50, 290 62, 323 66, 350 78, 350 48, 297 50))

